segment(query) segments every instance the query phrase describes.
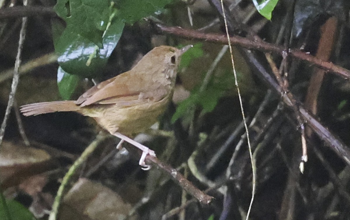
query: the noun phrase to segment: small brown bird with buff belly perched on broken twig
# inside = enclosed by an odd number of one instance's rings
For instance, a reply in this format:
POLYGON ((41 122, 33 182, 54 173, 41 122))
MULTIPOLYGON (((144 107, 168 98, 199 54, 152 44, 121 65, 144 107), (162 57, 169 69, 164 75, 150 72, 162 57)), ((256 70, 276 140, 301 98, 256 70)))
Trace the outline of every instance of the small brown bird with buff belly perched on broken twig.
POLYGON ((154 151, 128 138, 145 131, 166 110, 172 99, 180 56, 192 45, 177 49, 159 46, 130 70, 93 86, 76 101, 40 102, 21 106, 24 116, 75 111, 92 117, 112 135, 142 150, 139 164, 154 151))

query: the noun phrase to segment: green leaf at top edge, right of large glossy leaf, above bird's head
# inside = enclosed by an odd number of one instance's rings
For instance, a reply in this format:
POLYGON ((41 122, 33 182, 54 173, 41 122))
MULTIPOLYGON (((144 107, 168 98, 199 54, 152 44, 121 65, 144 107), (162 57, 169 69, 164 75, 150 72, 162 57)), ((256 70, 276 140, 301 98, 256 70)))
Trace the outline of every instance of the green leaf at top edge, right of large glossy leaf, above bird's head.
POLYGON ((153 13, 160 12, 172 0, 115 0, 118 16, 123 21, 133 23, 153 13))

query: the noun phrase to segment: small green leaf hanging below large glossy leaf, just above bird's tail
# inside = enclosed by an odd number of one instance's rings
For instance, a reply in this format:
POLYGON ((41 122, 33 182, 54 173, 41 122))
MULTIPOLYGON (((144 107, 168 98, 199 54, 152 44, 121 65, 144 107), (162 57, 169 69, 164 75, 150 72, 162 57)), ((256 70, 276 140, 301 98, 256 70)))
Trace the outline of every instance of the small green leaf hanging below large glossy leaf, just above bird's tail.
POLYGON ((63 100, 70 100, 72 94, 77 88, 80 77, 65 72, 61 67, 57 70, 57 85, 59 94, 63 100))

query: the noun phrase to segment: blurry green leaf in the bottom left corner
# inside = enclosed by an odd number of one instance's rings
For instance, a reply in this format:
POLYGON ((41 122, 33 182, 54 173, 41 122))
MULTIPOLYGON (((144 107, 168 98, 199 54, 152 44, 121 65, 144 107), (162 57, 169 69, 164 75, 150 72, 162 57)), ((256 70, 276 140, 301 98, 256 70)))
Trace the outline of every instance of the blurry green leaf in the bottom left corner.
POLYGON ((34 215, 22 204, 15 200, 6 200, 6 204, 0 204, 0 219, 6 220, 8 219, 7 211, 8 209, 11 219, 16 220, 35 220, 34 215), (7 207, 6 207, 7 206, 7 207))

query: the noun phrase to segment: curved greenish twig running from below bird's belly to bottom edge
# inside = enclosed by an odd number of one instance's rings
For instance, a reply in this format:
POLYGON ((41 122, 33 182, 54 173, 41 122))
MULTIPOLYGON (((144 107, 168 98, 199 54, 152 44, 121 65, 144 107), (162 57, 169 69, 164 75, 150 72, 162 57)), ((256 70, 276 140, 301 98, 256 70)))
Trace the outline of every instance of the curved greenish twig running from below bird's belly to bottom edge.
POLYGON ((61 198, 63 196, 63 191, 65 189, 65 186, 69 182, 70 178, 73 174, 75 174, 76 170, 86 161, 87 157, 89 157, 93 151, 96 149, 96 147, 104 141, 107 137, 106 135, 103 135, 102 132, 100 132, 95 140, 91 142, 89 146, 87 146, 84 150, 84 152, 79 156, 79 158, 73 163, 73 165, 69 168, 68 172, 65 174, 65 176, 62 179, 62 183, 58 188, 57 195, 55 197, 54 204, 52 205, 52 210, 49 216, 49 220, 56 220, 58 208, 61 203, 61 198))

